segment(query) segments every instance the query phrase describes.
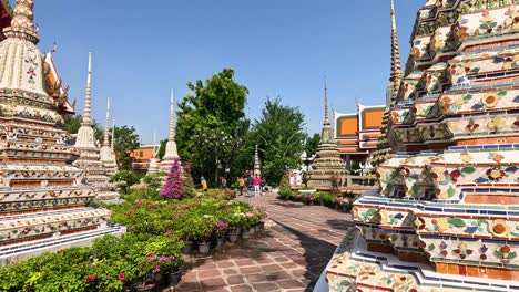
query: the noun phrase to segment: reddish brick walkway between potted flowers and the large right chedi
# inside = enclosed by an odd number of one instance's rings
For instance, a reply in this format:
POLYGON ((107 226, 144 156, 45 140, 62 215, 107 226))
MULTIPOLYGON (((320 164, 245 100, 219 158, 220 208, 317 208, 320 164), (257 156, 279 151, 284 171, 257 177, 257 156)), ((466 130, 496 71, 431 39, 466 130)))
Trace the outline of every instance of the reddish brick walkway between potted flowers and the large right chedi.
POLYGON ((349 215, 281 201, 273 194, 247 200, 266 207, 263 234, 226 243, 212 257, 191 257, 175 291, 312 291, 352 226, 349 215))

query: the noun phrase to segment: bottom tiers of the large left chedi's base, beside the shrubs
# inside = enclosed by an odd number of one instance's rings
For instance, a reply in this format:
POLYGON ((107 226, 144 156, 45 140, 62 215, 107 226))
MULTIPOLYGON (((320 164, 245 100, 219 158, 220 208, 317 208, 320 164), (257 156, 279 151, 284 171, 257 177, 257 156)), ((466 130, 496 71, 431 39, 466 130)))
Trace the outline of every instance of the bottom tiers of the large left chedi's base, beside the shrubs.
POLYGON ((125 228, 109 225, 110 211, 89 207, 0 217, 0 267, 44 252, 91 246, 104 234, 121 236, 125 228))

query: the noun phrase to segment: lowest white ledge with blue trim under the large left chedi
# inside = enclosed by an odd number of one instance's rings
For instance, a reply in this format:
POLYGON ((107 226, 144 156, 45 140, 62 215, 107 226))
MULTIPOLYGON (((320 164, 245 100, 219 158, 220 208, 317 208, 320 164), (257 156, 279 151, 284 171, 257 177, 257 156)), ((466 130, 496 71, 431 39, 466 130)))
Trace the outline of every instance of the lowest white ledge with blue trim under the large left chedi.
POLYGON ((105 234, 122 236, 126 228, 108 225, 96 229, 70 234, 54 236, 45 239, 13 243, 0 247, 0 267, 16 263, 45 252, 58 252, 73 247, 91 247, 94 239, 105 234))

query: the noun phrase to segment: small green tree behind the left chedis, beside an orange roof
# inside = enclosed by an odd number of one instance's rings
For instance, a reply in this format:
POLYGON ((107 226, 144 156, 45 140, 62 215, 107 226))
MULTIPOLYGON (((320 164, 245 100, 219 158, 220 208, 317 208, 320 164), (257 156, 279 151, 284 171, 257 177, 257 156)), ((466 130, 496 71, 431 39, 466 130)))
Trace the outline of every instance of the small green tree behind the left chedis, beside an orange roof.
POLYGON ((130 153, 133 149, 139 148, 141 145, 139 142, 139 134, 136 129, 131 126, 115 127, 115 156, 121 169, 132 168, 132 158, 130 153))

